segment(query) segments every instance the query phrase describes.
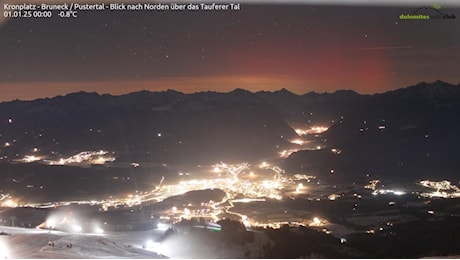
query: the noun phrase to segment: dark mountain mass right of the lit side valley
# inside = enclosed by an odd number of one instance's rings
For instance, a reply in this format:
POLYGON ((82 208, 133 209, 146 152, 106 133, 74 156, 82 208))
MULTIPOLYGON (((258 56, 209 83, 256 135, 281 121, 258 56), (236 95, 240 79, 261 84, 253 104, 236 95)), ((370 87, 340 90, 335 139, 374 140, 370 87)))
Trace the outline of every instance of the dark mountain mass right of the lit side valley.
MULTIPOLYGON (((441 81, 420 83, 364 98, 321 138, 337 156, 298 152, 285 167, 308 168, 312 160, 328 162, 315 170, 324 175, 390 176, 396 179, 449 178, 460 166, 460 86, 441 81)), ((334 178, 339 178, 335 176, 334 178)))

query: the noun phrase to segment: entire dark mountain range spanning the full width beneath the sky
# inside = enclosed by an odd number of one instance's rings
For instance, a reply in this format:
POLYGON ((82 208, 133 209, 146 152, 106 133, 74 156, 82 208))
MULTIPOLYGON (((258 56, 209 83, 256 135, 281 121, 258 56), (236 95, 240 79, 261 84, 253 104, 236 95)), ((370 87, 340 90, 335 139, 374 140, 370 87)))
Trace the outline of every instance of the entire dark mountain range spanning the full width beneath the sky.
POLYGON ((0 158, 68 157, 106 150, 117 161, 198 165, 278 158, 288 172, 349 176, 458 176, 460 85, 420 83, 381 94, 350 90, 296 95, 286 89, 127 95, 78 92, 0 103, 0 158), (339 152, 337 152, 339 151, 339 152))

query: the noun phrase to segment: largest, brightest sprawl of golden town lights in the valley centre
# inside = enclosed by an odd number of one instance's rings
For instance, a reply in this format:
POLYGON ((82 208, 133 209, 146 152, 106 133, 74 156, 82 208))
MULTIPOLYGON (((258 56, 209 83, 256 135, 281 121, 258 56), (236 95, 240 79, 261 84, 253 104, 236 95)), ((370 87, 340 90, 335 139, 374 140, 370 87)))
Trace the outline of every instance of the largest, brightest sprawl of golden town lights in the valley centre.
MULTIPOLYGON (((160 202, 166 198, 178 196, 193 190, 219 189, 225 193, 225 196, 220 201, 202 201, 198 204, 189 203, 187 205, 171 205, 170 208, 160 212, 160 219, 178 222, 182 219, 191 218, 206 218, 218 221, 223 214, 232 214, 242 217, 238 212, 231 211, 236 203, 260 203, 268 200, 282 200, 285 191, 296 194, 304 194, 306 187, 305 183, 314 179, 314 176, 295 174, 289 176, 279 166, 272 162, 262 162, 251 167, 249 163, 226 164, 219 163, 210 167, 210 172, 220 172, 216 178, 211 174, 208 179, 185 179, 174 184, 158 185, 151 191, 136 192, 121 196, 120 198, 110 197, 105 200, 88 200, 76 202, 59 202, 50 203, 49 205, 40 204, 39 207, 56 207, 61 205, 69 205, 76 203, 79 205, 100 205, 101 210, 109 210, 111 208, 133 207, 143 203, 160 202), (258 173, 261 171, 262 173, 258 173), (230 205, 230 206, 229 206, 230 205), (172 218, 172 219, 171 219, 172 218)), ((37 207, 37 205, 27 205, 37 207)), ((53 215, 53 222, 62 229, 67 229, 70 232, 78 232, 78 223, 75 222, 75 216, 68 215, 53 215), (62 227, 61 227, 62 226, 62 227)), ((254 220, 249 221, 246 216, 245 225, 256 225, 254 220)), ((49 221, 51 218, 49 219, 49 221)), ((40 225, 42 229, 50 228, 47 224, 40 225)), ((268 224, 274 224, 268 223, 268 224)), ((308 223, 304 223, 307 225, 308 223)), ((53 228, 55 225, 52 225, 53 228)), ((257 226, 257 225, 256 225, 257 226)), ((276 225, 275 225, 276 226, 276 225)), ((161 227, 161 224, 158 226, 161 227)), ((93 233, 101 233, 101 230, 91 230, 93 233)))

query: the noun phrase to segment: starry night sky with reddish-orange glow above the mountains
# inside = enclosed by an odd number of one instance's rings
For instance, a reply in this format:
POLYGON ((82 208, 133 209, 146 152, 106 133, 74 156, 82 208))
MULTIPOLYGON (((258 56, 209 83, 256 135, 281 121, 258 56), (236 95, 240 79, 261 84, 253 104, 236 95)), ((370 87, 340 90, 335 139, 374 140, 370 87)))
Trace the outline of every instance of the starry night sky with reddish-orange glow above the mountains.
POLYGON ((167 89, 372 94, 460 83, 459 6, 443 5, 453 20, 399 19, 416 8, 241 2, 238 11, 2 18, 0 101, 167 89))

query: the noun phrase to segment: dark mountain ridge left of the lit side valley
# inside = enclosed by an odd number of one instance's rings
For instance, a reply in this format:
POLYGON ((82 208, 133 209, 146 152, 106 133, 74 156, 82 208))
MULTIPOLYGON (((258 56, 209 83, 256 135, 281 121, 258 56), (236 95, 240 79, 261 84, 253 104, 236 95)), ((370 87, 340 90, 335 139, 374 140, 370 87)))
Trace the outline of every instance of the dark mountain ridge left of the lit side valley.
POLYGON ((79 92, 2 103, 0 118, 0 139, 11 144, 1 153, 9 158, 39 147, 62 156, 104 149, 133 160, 168 163, 248 160, 275 156, 275 143, 286 142, 279 137, 295 135, 277 110, 244 90, 122 96, 79 92))

